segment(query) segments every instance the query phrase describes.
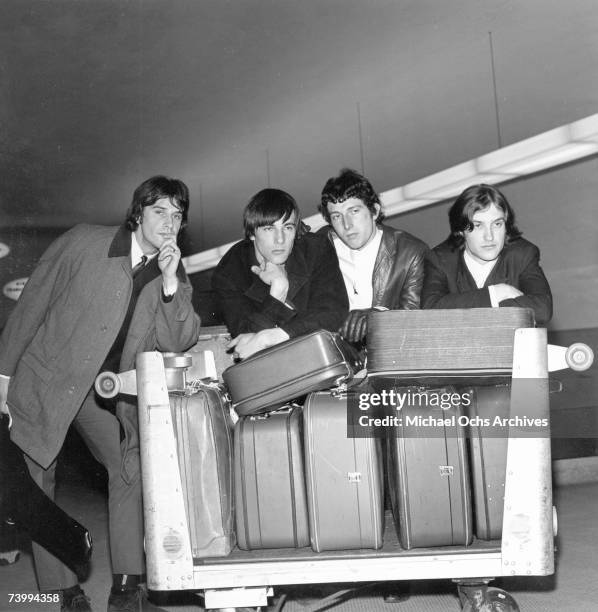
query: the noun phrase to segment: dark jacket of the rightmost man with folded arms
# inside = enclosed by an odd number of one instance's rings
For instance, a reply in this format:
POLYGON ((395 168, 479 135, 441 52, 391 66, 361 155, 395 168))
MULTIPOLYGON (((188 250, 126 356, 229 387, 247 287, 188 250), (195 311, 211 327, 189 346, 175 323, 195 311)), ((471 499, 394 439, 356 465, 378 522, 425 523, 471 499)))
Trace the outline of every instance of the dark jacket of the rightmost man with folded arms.
POLYGON ((462 249, 453 249, 448 241, 434 247, 426 260, 422 308, 490 307, 488 287, 499 283, 523 292, 520 297, 502 301, 500 306, 531 308, 536 323, 550 321, 552 294, 540 267, 540 251, 524 238, 505 245, 482 289, 477 288, 462 249))

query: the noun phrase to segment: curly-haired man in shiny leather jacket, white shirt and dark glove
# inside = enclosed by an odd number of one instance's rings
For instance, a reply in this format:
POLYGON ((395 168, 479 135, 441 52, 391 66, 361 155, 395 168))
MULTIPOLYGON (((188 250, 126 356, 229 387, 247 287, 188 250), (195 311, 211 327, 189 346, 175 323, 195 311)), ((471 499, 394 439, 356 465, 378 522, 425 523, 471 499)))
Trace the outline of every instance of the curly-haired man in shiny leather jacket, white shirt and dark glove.
POLYGON ((349 298, 350 312, 339 330, 347 340, 364 339, 373 309, 420 307, 428 247, 382 224, 380 198, 364 176, 344 168, 328 179, 319 210, 330 224, 319 233, 327 233, 335 247, 349 298))

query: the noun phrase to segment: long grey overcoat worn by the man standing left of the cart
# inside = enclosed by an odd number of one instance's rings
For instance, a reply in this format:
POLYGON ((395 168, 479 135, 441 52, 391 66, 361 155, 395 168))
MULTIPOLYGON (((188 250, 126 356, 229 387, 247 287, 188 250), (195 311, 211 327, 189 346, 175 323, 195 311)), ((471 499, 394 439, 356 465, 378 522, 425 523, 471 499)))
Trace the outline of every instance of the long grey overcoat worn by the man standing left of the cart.
MULTIPOLYGON (((0 374, 11 376, 11 437, 42 467, 58 454, 122 325, 133 286, 131 233, 77 225, 55 240, 27 281, 0 337, 0 374)), ((199 335, 191 286, 182 268, 173 299, 162 276, 141 291, 121 357, 135 367, 142 351, 183 351, 199 335)), ((127 440, 137 443, 133 404, 119 403, 127 440)))

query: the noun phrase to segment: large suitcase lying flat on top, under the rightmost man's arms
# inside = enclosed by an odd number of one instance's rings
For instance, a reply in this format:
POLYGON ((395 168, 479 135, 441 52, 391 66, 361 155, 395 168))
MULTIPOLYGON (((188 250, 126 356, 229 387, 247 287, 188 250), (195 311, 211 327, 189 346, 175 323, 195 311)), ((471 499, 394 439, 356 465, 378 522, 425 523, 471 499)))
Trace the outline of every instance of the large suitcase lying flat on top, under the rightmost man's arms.
POLYGON ((435 384, 435 377, 442 380, 447 375, 510 376, 515 330, 533 326, 533 311, 527 308, 372 312, 368 315, 368 375, 429 378, 430 384, 435 384))

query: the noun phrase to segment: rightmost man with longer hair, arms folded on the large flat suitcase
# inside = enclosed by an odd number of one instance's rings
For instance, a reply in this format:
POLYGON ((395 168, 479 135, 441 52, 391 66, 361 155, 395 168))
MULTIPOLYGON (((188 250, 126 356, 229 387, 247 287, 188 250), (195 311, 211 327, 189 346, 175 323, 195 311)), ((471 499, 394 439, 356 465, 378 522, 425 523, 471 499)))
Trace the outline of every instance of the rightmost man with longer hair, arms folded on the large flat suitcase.
POLYGON ((426 261, 422 308, 519 306, 552 317, 540 251, 521 238, 515 213, 490 185, 465 189, 449 210, 451 233, 426 261))

